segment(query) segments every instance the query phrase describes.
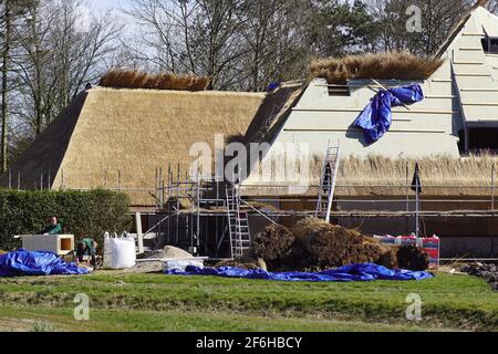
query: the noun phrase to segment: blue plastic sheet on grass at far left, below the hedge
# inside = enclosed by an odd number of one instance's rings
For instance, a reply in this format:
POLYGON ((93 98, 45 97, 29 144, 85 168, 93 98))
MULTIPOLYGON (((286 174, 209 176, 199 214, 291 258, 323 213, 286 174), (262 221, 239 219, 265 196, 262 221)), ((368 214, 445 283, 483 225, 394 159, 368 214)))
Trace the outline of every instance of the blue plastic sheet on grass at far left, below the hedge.
POLYGON ((68 263, 53 252, 20 249, 0 256, 0 277, 87 274, 89 270, 68 263))

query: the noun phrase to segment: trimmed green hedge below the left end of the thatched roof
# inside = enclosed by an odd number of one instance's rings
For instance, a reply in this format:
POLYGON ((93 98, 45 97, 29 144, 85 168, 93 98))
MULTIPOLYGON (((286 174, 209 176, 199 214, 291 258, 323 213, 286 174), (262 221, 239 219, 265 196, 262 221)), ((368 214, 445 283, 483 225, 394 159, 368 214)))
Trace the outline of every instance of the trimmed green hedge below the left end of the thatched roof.
POLYGON ((20 247, 13 236, 42 230, 51 216, 59 218, 64 233, 74 235, 76 240, 92 237, 100 246, 105 231, 122 232, 132 221, 129 198, 122 192, 0 189, 0 249, 20 247))

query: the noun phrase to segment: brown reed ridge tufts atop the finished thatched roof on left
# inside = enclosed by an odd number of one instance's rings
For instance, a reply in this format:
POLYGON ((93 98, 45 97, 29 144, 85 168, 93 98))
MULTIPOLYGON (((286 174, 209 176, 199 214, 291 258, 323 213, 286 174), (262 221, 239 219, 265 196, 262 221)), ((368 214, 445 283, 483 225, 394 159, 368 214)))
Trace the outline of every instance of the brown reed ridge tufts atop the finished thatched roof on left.
POLYGON ((103 87, 151 88, 174 91, 205 91, 209 77, 177 75, 173 73, 147 74, 133 70, 112 70, 105 73, 98 83, 103 87))

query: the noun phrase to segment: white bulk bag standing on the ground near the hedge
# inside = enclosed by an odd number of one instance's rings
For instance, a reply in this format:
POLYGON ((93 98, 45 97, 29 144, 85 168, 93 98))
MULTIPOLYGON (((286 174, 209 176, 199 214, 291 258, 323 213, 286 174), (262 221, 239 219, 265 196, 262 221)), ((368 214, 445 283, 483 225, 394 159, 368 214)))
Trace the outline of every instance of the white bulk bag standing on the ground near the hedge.
POLYGON ((133 237, 124 235, 110 237, 106 232, 104 236, 104 268, 107 269, 126 269, 132 268, 136 263, 135 240, 133 237))

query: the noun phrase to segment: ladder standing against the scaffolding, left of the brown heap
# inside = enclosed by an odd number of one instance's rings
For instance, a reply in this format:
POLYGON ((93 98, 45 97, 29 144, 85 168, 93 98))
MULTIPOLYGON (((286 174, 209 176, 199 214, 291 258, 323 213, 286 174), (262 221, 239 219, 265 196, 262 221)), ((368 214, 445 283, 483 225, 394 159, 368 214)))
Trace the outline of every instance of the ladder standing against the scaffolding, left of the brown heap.
POLYGON ((240 211, 240 196, 237 186, 226 188, 226 198, 230 256, 234 259, 241 257, 251 247, 249 216, 247 211, 240 211))

